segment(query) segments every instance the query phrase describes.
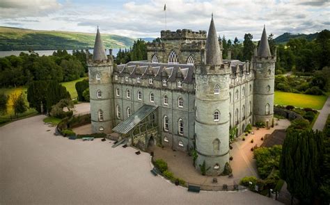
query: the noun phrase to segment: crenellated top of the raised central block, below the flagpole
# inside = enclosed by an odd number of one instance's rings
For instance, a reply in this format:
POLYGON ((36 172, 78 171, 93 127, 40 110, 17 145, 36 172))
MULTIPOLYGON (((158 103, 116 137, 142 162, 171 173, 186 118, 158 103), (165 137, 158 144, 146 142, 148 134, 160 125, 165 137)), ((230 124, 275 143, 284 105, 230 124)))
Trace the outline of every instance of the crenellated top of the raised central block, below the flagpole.
POLYGON ((162 40, 206 40, 206 31, 191 31, 190 29, 178 29, 177 31, 161 31, 162 40))

